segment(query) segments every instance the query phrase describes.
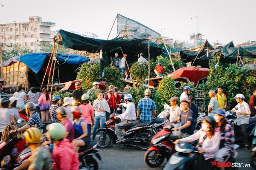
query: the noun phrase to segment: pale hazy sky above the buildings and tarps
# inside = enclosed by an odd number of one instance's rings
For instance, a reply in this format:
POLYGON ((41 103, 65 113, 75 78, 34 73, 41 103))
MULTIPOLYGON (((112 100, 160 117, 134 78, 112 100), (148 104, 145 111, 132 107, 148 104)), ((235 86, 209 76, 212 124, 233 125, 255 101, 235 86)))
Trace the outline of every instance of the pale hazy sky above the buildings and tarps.
MULTIPOLYGON (((107 39, 119 13, 174 40, 198 30, 209 42, 256 41, 256 0, 0 0, 0 23, 29 16, 56 23, 52 30, 93 32, 107 39)), ((116 24, 110 39, 116 35, 116 24)))

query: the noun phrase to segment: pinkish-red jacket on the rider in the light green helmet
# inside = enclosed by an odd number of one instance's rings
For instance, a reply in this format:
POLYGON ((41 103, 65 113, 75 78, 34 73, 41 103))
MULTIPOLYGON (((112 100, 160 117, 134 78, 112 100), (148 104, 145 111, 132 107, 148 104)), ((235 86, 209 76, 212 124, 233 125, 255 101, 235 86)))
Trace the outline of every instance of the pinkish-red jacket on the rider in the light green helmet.
POLYGON ((52 151, 53 170, 79 170, 79 160, 73 145, 64 138, 55 145, 52 151))

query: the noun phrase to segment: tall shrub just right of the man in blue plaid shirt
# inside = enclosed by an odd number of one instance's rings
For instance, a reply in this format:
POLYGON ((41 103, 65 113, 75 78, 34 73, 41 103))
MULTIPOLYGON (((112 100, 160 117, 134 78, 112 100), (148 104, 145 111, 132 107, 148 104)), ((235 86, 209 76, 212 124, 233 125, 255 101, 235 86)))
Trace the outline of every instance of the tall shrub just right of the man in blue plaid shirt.
POLYGON ((163 105, 165 103, 169 104, 168 100, 173 96, 177 96, 174 80, 171 77, 165 77, 154 95, 154 101, 157 105, 157 114, 163 111, 163 105))

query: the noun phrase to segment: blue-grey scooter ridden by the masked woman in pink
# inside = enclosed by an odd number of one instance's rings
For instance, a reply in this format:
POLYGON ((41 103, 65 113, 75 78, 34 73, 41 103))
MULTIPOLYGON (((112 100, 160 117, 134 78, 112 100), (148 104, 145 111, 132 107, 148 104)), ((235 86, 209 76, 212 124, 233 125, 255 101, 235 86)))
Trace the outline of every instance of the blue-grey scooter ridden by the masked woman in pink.
MULTIPOLYGON (((201 166, 198 164, 198 156, 203 156, 200 155, 201 153, 198 153, 198 147, 200 147, 200 145, 192 146, 186 142, 176 144, 175 150, 177 150, 177 152, 171 156, 163 170, 197 170, 198 166, 201 166)), ((238 147, 239 145, 234 145, 235 150, 238 147)), ((230 152, 224 157, 224 162, 236 162, 234 154, 230 152)), ((217 167, 218 166, 217 163, 217 167)), ((236 167, 230 168, 236 169, 236 167)))

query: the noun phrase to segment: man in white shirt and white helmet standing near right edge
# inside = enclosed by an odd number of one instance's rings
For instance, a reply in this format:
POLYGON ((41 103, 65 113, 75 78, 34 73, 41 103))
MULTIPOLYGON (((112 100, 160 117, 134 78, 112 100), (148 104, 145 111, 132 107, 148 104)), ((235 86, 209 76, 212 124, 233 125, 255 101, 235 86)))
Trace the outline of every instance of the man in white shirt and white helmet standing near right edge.
MULTIPOLYGON (((236 111, 236 125, 240 126, 243 135, 244 150, 249 149, 248 134, 246 131, 247 124, 250 119, 250 108, 249 105, 244 102, 244 95, 237 94, 235 96, 236 102, 238 103, 235 108, 231 111, 236 111)), ((236 130, 237 133, 237 130, 236 130)), ((238 133, 237 133, 238 134, 238 133)))

